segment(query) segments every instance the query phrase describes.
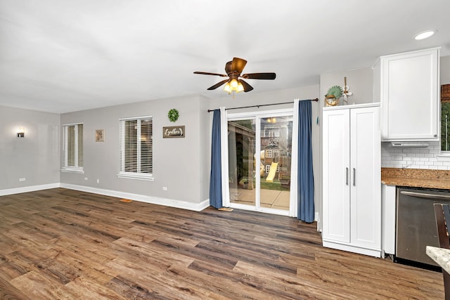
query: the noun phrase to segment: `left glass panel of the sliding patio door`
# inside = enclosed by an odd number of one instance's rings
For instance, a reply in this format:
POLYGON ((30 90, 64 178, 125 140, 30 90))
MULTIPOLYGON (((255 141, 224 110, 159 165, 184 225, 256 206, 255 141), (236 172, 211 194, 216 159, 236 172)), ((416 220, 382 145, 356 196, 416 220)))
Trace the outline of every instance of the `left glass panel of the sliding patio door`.
POLYGON ((230 202, 256 205, 255 119, 228 122, 230 202))

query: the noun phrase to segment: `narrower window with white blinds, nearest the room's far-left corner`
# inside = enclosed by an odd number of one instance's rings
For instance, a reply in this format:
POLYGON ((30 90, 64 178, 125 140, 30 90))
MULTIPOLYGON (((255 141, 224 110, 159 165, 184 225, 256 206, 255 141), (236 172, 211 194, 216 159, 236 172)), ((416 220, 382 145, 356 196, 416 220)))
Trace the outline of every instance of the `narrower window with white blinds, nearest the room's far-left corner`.
POLYGON ((63 171, 83 171, 83 124, 63 125, 63 171))

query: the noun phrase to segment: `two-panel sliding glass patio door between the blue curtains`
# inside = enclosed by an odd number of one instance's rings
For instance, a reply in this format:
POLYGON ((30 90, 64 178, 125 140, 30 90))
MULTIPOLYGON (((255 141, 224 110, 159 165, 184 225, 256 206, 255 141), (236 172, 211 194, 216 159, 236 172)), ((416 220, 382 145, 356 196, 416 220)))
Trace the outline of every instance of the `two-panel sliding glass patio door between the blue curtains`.
POLYGON ((288 215, 292 115, 228 122, 230 207, 288 215))

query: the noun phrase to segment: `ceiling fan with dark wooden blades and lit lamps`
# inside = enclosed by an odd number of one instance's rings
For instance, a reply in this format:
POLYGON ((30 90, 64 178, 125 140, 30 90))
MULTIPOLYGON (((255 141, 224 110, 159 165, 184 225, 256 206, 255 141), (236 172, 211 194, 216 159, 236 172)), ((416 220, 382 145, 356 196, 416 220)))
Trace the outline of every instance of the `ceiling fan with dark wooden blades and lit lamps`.
POLYGON ((240 74, 244 70, 245 65, 247 64, 247 60, 242 58, 233 58, 232 61, 229 61, 225 65, 226 74, 217 74, 210 72, 194 72, 194 74, 204 74, 204 75, 214 75, 220 77, 229 77, 228 79, 224 79, 214 86, 208 88, 208 90, 217 89, 222 84, 225 84, 224 91, 231 93, 240 91, 252 91, 252 86, 248 84, 243 79, 265 79, 265 80, 273 80, 276 77, 275 73, 248 73, 248 74, 240 74))

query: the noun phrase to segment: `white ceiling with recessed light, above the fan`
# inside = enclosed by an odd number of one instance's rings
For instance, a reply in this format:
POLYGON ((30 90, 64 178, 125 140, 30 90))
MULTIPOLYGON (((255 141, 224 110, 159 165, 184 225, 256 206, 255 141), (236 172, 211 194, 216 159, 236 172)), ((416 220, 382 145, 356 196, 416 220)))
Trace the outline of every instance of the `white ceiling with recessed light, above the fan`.
POLYGON ((255 90, 319 84, 319 74, 441 46, 449 0, 1 0, 0 105, 46 112, 199 94, 233 57, 255 90), (423 41, 414 34, 435 29, 423 41))

